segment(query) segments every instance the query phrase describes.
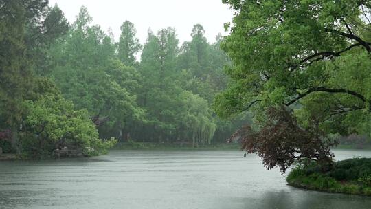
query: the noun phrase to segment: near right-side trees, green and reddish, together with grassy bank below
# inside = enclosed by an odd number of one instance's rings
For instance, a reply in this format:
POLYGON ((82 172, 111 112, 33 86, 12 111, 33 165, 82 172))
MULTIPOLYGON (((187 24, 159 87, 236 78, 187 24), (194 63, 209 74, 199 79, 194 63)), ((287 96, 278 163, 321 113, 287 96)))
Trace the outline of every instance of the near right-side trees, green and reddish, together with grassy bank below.
POLYGON ((355 173, 369 160, 335 163, 330 152, 333 135, 371 137, 370 1, 223 2, 236 11, 221 44, 233 65, 214 108, 254 114, 231 139, 268 169, 314 164, 294 169, 291 185, 370 194, 370 173, 355 173))

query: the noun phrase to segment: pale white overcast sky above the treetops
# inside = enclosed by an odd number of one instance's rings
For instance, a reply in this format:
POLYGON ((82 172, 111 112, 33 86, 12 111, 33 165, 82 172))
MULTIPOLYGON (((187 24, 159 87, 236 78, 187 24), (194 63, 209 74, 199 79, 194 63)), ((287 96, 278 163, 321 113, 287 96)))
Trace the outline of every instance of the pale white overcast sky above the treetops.
POLYGON ((125 20, 131 21, 141 43, 146 41, 148 28, 157 32, 169 26, 177 30, 181 43, 189 41, 196 23, 203 25, 207 39, 214 42, 218 33, 225 34, 223 24, 231 21, 233 14, 221 0, 49 0, 49 3, 57 3, 70 23, 85 5, 93 24, 105 31, 112 28, 115 40, 120 36, 120 25, 125 20))

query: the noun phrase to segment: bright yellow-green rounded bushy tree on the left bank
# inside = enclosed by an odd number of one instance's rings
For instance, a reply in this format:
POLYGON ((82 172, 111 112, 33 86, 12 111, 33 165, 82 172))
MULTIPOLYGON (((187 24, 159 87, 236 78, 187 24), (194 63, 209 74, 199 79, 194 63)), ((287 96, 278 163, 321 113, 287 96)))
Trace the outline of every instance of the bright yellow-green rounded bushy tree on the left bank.
POLYGON ((49 157, 55 149, 63 147, 78 148, 85 155, 99 155, 115 143, 100 140, 87 110, 75 111, 74 104, 65 100, 55 85, 47 80, 38 84, 44 94, 27 104, 21 141, 25 156, 49 157))

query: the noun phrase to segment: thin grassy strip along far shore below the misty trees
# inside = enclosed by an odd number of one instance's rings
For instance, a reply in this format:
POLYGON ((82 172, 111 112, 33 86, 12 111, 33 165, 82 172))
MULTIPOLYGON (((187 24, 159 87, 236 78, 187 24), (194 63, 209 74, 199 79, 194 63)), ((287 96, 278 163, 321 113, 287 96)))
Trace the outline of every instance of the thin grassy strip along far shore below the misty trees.
POLYGON ((238 150, 240 144, 212 144, 199 145, 192 147, 191 145, 179 144, 157 144, 148 142, 125 142, 117 143, 113 150, 238 150))

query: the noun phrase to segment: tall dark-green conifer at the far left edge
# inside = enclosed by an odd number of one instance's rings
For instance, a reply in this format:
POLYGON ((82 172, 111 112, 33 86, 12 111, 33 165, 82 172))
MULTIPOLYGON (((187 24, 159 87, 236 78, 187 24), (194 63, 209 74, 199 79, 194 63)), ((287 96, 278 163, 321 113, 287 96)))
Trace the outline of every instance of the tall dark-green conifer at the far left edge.
MULTIPOLYGON (((38 6, 35 2, 35 10, 38 6)), ((33 15, 27 14, 21 1, 0 1, 0 11, 0 124, 15 134, 25 111, 23 100, 32 86, 24 25, 26 17, 33 15)))

